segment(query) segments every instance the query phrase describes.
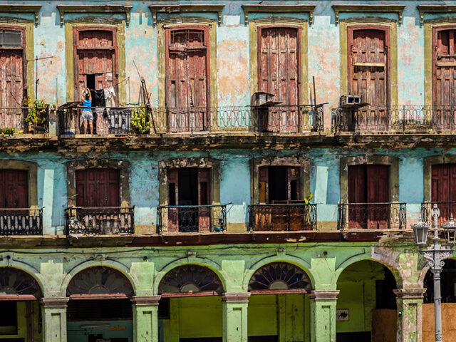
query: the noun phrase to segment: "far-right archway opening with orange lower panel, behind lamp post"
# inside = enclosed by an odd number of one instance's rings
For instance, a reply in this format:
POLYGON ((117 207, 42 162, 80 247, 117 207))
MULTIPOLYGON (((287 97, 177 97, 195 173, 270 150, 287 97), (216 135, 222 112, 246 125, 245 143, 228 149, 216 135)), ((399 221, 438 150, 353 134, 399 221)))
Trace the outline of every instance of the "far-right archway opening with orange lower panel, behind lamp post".
MULTIPOLYGON (((435 339, 434 323, 434 276, 432 271, 426 273, 423 300, 423 342, 435 339)), ((442 295, 442 335, 443 341, 455 341, 456 326, 450 319, 456 315, 456 260, 447 259, 440 274, 440 292, 442 295)))

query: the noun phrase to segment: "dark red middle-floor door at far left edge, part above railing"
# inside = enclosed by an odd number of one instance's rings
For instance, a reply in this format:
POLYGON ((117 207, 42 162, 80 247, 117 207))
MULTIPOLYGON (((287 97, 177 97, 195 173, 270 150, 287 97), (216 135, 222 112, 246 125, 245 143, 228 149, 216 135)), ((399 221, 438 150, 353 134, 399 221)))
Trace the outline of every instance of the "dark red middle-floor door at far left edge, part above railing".
POLYGON ((28 172, 0 170, 0 208, 28 208, 28 172))

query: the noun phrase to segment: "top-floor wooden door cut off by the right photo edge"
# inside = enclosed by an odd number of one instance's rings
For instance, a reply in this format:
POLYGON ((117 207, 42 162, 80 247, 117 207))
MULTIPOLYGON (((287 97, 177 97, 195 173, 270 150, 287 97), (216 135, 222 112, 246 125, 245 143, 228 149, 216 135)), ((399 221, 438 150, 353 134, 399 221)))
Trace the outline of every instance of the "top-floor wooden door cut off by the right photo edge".
POLYGON ((455 129, 456 26, 432 31, 432 125, 435 129, 455 129))

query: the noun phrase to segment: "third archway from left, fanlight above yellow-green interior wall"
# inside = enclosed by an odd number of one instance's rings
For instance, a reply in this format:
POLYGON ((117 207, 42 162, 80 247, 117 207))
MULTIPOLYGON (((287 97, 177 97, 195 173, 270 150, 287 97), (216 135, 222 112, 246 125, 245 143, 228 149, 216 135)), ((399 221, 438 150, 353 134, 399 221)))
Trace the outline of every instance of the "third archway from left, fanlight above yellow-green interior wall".
POLYGON ((160 281, 159 341, 222 342, 222 281, 204 266, 187 264, 160 281))

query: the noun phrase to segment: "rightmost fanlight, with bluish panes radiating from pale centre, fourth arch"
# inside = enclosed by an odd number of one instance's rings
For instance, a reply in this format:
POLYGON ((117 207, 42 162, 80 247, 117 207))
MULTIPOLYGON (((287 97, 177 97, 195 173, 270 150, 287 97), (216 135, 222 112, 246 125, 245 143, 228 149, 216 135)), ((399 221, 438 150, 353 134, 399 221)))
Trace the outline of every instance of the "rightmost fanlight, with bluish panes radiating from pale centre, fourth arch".
POLYGON ((311 281, 306 272, 293 264, 273 262, 255 271, 249 281, 252 293, 306 293, 311 290, 311 281))

